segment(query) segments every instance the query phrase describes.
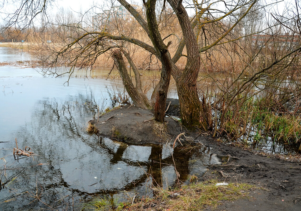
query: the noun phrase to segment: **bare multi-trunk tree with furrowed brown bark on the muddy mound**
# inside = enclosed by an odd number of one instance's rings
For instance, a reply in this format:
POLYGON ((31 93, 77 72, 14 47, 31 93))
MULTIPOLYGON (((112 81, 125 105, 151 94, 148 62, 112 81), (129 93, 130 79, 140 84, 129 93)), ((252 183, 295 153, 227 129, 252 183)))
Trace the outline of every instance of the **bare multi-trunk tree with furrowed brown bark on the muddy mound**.
MULTIPOLYGON (((221 43, 222 40, 231 33, 231 30, 246 16, 253 5, 258 0, 247 1, 212 1, 198 3, 192 1, 184 7, 182 1, 167 0, 158 4, 157 0, 143 1, 145 11, 138 11, 125 0, 117 0, 123 5, 133 18, 140 24, 144 33, 148 36, 150 43, 143 42, 133 36, 127 36, 120 31, 111 33, 107 30, 88 31, 79 37, 76 37, 72 43, 63 46, 58 52, 49 55, 53 64, 61 61, 68 61, 67 65, 72 67, 84 67, 93 64, 98 55, 111 51, 111 55, 115 61, 116 67, 123 80, 123 84, 133 100, 134 104, 142 108, 152 108, 154 110, 154 119, 160 122, 164 121, 166 97, 171 76, 174 78, 180 102, 181 120, 186 127, 200 127, 208 130, 210 122, 206 118, 206 103, 200 100, 197 90, 197 76, 200 71, 200 53, 221 43), (219 9, 222 4, 223 9, 219 9), (181 28, 180 36, 175 34, 163 37, 159 30, 160 14, 156 13, 156 7, 164 11, 166 8, 172 10, 176 16, 177 22, 181 28), (187 8, 193 8, 194 17, 190 17, 187 8), (244 10, 242 10, 244 8, 244 10), (145 12, 145 13, 144 13, 145 12), (221 20, 232 17, 235 21, 226 28, 220 30, 215 39, 206 39, 206 33, 210 34, 210 30, 205 29, 207 25, 219 27, 221 20), (175 52, 169 51, 171 42, 164 41, 169 36, 178 36, 178 43, 175 52), (203 36, 205 42, 203 45, 198 39, 203 36), (129 52, 125 47, 131 43, 143 48, 145 51, 160 61, 161 76, 160 81, 154 88, 151 99, 147 99, 141 90, 140 74, 132 62, 129 52), (75 55, 75 56, 74 56, 75 55), (135 73, 136 85, 132 83, 126 71, 124 57, 132 67, 135 73), (185 57, 186 62, 184 68, 179 68, 176 63, 185 57), (67 59, 66 59, 67 58, 67 59)), ((157 8, 158 9, 158 8, 157 8)), ((118 21, 117 21, 118 22, 118 21)), ((117 23, 116 22, 116 23, 117 23)), ((162 23, 161 23, 162 24, 162 23)), ((118 27, 117 27, 118 28, 118 27)), ((72 71, 71 71, 72 73, 72 71)))

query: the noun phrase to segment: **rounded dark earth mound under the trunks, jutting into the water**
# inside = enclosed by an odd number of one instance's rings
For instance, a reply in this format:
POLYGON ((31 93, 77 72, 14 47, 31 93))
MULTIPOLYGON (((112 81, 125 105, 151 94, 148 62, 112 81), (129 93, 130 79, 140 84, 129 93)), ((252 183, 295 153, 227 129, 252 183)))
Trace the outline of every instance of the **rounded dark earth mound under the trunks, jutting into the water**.
POLYGON ((118 106, 89 121, 88 132, 130 144, 160 144, 173 141, 187 131, 172 116, 179 115, 178 100, 172 99, 163 124, 153 120, 150 110, 134 105, 118 106))

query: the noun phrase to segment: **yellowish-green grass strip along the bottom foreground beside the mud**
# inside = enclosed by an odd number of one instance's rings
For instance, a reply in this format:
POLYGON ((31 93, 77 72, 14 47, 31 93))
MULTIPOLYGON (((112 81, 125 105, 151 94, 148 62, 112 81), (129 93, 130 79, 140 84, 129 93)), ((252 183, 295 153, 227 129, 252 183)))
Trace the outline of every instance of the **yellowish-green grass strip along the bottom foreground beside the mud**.
POLYGON ((166 190, 153 187, 153 198, 129 198, 127 202, 104 197, 85 204, 83 210, 168 210, 168 211, 198 211, 206 208, 216 208, 225 201, 248 197, 249 190, 256 189, 249 184, 231 183, 219 185, 216 180, 184 185, 181 188, 166 190))

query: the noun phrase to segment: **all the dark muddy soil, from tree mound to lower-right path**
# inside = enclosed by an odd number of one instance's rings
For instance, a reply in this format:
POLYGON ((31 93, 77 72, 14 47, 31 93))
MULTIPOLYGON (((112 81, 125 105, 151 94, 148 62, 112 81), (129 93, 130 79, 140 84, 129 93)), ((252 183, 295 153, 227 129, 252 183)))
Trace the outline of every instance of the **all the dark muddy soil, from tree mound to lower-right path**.
MULTIPOLYGON (((170 114, 179 114, 176 101, 172 102, 169 109, 170 114)), ((124 106, 91 122, 98 128, 98 135, 133 144, 160 144, 166 141, 173 143, 178 134, 185 132, 194 136, 195 140, 200 140, 206 147, 210 147, 211 152, 216 153, 224 162, 222 165, 208 166, 208 172, 199 178, 199 181, 214 178, 258 187, 246 193, 248 198, 225 201, 215 210, 301 210, 301 156, 252 152, 247 148, 218 142, 198 132, 186 131, 171 117, 166 117, 166 127, 156 123, 152 117, 151 111, 124 106)))

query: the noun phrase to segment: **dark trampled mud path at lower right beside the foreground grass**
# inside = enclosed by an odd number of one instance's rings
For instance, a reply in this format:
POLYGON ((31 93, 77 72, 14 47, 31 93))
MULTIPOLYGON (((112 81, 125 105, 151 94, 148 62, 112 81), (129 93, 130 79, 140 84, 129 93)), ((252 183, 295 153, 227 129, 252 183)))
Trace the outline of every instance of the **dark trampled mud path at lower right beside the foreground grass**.
POLYGON ((249 199, 226 202, 218 210, 301 210, 300 156, 269 155, 249 152, 215 140, 206 140, 215 153, 238 157, 225 166, 213 166, 203 179, 213 177, 226 182, 248 183, 259 187, 250 192, 249 199), (222 174, 219 172, 222 171, 222 174))

